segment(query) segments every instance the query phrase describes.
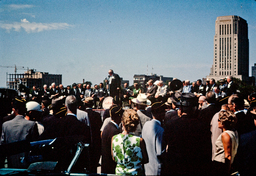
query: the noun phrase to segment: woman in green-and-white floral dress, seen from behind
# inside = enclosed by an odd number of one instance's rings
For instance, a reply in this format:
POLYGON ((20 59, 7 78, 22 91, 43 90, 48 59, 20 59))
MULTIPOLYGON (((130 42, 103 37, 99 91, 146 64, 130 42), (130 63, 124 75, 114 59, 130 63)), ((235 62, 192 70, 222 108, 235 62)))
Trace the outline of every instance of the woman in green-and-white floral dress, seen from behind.
POLYGON ((112 157, 117 163, 117 175, 144 175, 143 164, 148 162, 146 145, 134 131, 139 124, 136 111, 127 109, 123 113, 123 132, 112 138, 112 157))

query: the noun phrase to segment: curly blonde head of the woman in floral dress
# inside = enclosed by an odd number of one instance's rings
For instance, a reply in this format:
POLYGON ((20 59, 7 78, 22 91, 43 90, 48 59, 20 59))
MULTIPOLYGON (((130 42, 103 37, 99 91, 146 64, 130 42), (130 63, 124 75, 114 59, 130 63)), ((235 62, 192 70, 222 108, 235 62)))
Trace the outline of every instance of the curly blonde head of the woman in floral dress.
POLYGON ((122 116, 122 124, 127 132, 134 132, 139 124, 139 117, 135 110, 127 109, 122 116))

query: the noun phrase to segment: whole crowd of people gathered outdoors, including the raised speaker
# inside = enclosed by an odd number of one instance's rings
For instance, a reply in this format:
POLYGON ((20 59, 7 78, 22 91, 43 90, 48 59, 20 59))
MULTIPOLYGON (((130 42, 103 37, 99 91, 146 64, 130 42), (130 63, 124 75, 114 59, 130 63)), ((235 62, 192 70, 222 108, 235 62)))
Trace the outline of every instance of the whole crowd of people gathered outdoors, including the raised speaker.
MULTIPOLYGON (((174 79, 122 87, 109 70, 94 88, 53 83, 40 92, 34 86, 29 97, 15 98, 13 112, 3 118, 1 145, 71 137, 65 145, 90 144, 75 168, 87 173, 97 173, 99 165, 101 173, 118 175, 256 173, 256 93, 242 97, 232 77, 218 84, 174 79), (108 97, 112 103, 104 106, 108 97)), ((51 159, 60 159, 64 170, 72 156, 65 150, 51 159)), ((28 167, 21 157, 26 152, 8 156, 8 167, 28 167)))

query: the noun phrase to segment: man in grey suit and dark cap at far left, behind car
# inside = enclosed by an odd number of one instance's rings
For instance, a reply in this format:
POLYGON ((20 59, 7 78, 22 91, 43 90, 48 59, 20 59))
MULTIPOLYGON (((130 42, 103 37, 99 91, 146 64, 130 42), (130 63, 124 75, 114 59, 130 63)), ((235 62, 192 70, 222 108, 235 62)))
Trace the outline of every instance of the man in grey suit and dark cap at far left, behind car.
MULTIPOLYGON (((34 141, 38 139, 37 124, 34 121, 26 120, 26 103, 21 98, 15 98, 13 108, 15 118, 3 123, 2 137, 0 144, 9 144, 13 142, 28 140, 34 141)), ((27 156, 27 153, 19 153, 8 156, 9 168, 27 168, 29 163, 27 160, 21 162, 21 158, 27 156)))

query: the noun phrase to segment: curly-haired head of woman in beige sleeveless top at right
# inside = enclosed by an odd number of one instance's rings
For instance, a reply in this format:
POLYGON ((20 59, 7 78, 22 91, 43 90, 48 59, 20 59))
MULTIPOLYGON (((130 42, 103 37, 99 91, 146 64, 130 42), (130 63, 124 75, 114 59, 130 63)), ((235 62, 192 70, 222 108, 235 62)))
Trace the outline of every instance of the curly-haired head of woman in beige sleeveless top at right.
POLYGON ((236 115, 232 111, 220 111, 218 126, 226 130, 232 130, 237 122, 236 115))

